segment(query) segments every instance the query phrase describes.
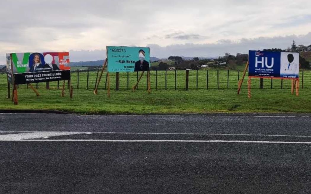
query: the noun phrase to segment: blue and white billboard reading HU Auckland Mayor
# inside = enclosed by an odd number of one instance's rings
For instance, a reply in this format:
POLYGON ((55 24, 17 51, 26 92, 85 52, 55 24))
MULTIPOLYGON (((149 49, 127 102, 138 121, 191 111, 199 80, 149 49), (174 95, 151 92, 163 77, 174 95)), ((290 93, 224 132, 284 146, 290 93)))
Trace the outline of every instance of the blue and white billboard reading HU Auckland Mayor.
POLYGON ((249 51, 248 76, 299 78, 299 53, 249 51))

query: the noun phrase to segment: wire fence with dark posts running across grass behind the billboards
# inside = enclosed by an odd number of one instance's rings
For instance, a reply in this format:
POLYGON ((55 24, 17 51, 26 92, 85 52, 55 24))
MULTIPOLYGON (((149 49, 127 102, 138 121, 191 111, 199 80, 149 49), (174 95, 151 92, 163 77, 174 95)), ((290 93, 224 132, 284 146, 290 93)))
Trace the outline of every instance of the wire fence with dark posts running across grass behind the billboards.
MULTIPOLYGON (((311 71, 300 71, 301 88, 311 88, 311 71)), ((71 83, 74 89, 94 89, 100 74, 95 71, 72 71, 71 83)), ((118 79, 116 73, 109 73, 110 88, 116 90, 131 90, 137 82, 141 72, 120 72, 118 79), (118 80, 118 82, 117 82, 118 80)), ((152 90, 224 90, 237 89, 238 80, 242 78, 243 71, 237 70, 190 70, 187 84, 186 70, 150 71, 152 90), (188 86, 188 87, 187 87, 188 86)), ((242 87, 247 87, 247 76, 242 87)), ((6 85, 6 74, 0 74, 0 85, 6 85)), ((49 89, 62 88, 62 81, 49 82, 49 89)), ((66 84, 66 88, 68 85, 66 84)), ((27 87, 27 84, 18 87, 27 87)), ((35 88, 46 88, 47 83, 35 83, 35 88)), ((138 85, 138 90, 147 90, 147 74, 145 73, 138 85)), ((260 79, 252 79, 252 88, 260 88, 260 79)), ((263 79, 263 88, 291 88, 291 81, 285 79, 263 79)), ((108 89, 107 72, 104 71, 98 89, 108 89)))

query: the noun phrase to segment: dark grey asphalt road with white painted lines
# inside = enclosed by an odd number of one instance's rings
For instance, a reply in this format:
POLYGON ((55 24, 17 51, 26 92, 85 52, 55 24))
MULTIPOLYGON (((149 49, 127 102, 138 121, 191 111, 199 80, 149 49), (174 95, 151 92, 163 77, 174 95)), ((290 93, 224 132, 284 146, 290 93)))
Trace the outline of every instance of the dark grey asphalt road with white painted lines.
POLYGON ((310 115, 0 114, 0 193, 310 193, 310 124, 310 115))

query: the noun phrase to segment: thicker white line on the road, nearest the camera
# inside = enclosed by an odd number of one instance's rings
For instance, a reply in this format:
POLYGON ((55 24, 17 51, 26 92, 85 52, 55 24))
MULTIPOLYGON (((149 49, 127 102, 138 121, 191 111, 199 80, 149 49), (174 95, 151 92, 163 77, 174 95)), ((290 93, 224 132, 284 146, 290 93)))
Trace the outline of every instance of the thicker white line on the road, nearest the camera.
MULTIPOLYGON (((8 141, 8 140, 7 140, 8 141)), ((226 140, 114 140, 114 139, 21 139, 17 142, 189 142, 189 143, 265 143, 311 144, 311 142, 226 141, 226 140)))

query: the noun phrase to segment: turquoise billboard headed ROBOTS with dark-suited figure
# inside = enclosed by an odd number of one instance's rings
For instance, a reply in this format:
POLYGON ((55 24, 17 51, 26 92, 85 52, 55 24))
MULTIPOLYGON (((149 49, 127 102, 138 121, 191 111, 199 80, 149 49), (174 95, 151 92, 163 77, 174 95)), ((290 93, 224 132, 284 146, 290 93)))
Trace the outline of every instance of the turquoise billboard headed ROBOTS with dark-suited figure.
POLYGON ((109 72, 150 71, 149 47, 107 46, 109 72))

